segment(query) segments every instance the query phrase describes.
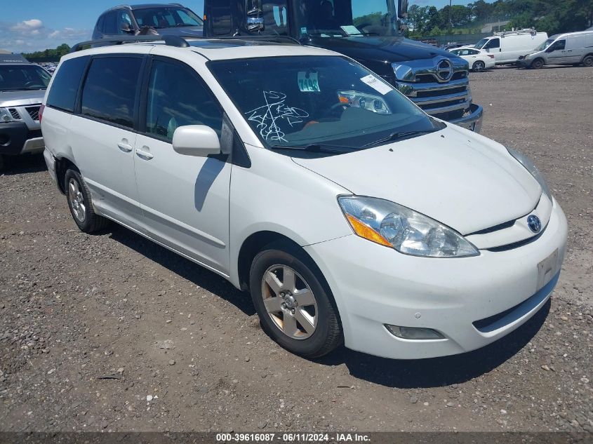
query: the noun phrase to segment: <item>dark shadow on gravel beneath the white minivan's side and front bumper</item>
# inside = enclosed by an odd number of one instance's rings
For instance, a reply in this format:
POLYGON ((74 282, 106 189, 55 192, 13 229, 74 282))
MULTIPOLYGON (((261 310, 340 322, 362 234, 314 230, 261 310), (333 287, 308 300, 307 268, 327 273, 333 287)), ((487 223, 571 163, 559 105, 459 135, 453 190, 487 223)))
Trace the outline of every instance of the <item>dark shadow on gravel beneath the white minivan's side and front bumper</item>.
MULTIPOLYGON (((111 237, 149 260, 199 287, 222 297, 247 316, 255 314, 251 297, 217 274, 118 225, 111 237)), ((494 370, 517 354, 542 327, 550 307, 548 301, 533 318, 509 335, 484 348, 443 358, 414 361, 378 358, 340 347, 317 360, 323 365, 345 364, 350 375, 374 384, 398 388, 427 388, 466 382, 494 370)), ((270 339, 272 340, 272 339, 270 339)))

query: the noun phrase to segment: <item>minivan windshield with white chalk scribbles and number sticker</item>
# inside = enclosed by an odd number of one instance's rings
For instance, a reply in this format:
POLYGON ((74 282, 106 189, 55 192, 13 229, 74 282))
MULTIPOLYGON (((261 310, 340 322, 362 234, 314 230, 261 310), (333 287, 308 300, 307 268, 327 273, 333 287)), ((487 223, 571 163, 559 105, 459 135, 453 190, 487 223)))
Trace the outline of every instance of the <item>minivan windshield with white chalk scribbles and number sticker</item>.
POLYGON ((346 58, 220 60, 208 67, 266 147, 362 149, 444 127, 346 58))

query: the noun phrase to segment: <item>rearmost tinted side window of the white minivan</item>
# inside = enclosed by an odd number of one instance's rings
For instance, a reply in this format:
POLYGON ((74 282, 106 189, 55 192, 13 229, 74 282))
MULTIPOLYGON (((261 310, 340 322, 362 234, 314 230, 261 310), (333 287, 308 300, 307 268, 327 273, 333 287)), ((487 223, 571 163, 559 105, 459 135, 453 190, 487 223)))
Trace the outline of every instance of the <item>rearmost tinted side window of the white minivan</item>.
POLYGON ((47 105, 62 111, 74 112, 76 93, 84 73, 88 57, 77 57, 62 63, 51 84, 47 105))

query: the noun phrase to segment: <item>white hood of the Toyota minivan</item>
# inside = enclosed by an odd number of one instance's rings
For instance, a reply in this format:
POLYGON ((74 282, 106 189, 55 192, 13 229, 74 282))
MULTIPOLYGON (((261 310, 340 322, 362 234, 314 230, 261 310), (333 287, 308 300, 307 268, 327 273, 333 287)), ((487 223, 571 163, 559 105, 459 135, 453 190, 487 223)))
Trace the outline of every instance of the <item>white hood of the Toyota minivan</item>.
POLYGON ((451 127, 359 152, 293 161, 353 194, 399 203, 461 234, 518 219, 542 194, 505 147, 451 127))

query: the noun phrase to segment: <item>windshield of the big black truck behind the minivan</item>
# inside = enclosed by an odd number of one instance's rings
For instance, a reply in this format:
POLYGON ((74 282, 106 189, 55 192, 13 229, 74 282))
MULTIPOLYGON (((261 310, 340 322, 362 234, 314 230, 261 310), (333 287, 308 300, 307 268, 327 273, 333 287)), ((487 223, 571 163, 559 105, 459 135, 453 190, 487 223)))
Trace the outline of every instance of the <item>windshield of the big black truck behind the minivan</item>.
POLYGON ((301 0, 295 25, 300 36, 393 36, 397 8, 393 0, 301 0))

